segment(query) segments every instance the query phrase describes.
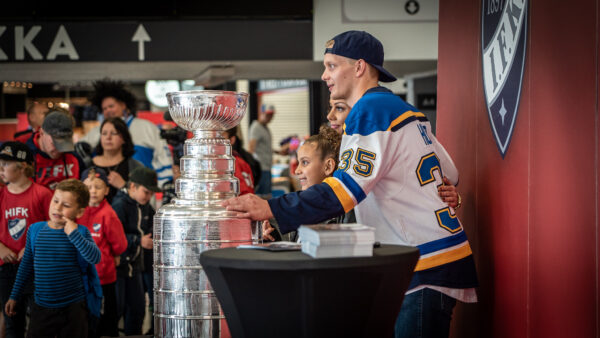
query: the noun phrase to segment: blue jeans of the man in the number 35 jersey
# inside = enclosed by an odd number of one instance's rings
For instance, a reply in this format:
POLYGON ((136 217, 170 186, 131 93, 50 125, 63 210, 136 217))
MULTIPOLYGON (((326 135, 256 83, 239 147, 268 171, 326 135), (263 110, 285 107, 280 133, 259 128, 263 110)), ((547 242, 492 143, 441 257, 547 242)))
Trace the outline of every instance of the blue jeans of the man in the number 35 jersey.
POLYGON ((396 319, 396 338, 447 338, 456 299, 425 288, 404 296, 396 319))

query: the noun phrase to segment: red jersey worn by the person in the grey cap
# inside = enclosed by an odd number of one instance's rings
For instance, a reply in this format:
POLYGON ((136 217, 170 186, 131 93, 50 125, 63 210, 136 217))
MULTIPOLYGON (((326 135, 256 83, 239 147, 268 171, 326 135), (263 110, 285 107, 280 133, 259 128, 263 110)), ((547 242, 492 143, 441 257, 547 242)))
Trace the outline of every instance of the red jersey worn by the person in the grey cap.
POLYGON ((57 159, 50 158, 39 146, 40 133, 35 133, 27 141, 27 145, 35 154, 34 181, 52 190, 56 185, 67 178, 79 179, 84 165, 79 157, 73 153, 63 153, 57 159))

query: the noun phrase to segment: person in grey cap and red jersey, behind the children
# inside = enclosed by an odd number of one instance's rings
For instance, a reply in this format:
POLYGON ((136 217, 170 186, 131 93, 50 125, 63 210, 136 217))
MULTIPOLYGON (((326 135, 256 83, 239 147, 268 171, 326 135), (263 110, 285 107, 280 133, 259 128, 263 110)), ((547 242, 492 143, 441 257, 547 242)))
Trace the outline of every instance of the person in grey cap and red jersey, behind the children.
POLYGON ((79 179, 85 164, 73 150, 75 121, 66 112, 54 110, 44 118, 38 133, 27 141, 34 153, 34 181, 54 190, 67 178, 79 179))

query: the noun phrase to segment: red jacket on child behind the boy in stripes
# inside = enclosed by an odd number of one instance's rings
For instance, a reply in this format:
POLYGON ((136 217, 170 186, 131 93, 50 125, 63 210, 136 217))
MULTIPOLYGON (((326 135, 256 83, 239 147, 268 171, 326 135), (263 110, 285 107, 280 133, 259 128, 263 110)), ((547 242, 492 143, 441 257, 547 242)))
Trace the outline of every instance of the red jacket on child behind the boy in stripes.
POLYGON ((100 284, 114 283, 117 280, 115 256, 127 249, 127 238, 117 214, 104 199, 97 207, 85 208, 83 216, 77 219, 77 224, 88 228, 100 249, 100 263, 96 264, 100 284))

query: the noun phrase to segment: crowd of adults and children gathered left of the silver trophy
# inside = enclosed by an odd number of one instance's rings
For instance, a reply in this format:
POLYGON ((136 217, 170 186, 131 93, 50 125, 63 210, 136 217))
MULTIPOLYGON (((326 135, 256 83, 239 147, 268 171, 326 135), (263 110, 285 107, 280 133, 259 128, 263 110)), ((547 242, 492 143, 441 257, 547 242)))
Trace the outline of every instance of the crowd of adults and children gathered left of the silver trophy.
POLYGON ((150 201, 173 159, 123 83, 95 87, 104 119, 85 146, 71 113, 35 102, 0 147, 0 336, 118 336, 121 318, 140 335, 145 294, 152 313, 150 201))

